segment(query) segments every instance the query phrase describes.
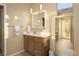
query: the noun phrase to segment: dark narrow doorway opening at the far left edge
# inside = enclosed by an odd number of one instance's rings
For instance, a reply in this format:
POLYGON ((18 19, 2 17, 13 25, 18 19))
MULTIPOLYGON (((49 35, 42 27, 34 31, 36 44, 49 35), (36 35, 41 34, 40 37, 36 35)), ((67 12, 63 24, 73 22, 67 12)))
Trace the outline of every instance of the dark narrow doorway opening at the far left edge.
POLYGON ((4 55, 4 6, 0 5, 0 56, 4 55))

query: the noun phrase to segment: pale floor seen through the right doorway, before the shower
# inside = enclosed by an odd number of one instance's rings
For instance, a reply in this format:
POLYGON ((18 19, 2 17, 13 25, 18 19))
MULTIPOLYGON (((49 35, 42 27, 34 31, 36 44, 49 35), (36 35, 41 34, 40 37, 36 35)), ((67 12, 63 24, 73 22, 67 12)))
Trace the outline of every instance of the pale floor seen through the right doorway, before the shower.
POLYGON ((59 39, 56 42, 56 54, 58 56, 73 56, 73 47, 69 39, 59 39))

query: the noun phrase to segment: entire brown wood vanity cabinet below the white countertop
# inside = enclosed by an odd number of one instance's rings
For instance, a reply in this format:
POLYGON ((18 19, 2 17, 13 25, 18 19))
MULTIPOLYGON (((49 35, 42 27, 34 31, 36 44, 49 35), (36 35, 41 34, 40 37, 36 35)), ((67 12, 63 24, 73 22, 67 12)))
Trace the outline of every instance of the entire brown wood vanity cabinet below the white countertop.
POLYGON ((49 37, 24 35, 24 49, 35 56, 47 56, 49 54, 49 37))

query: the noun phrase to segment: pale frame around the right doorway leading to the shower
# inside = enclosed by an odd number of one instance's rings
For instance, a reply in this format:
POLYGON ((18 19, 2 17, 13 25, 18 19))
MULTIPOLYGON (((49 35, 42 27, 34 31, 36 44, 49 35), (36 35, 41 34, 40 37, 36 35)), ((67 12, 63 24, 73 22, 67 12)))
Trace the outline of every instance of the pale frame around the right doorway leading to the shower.
MULTIPOLYGON (((58 18, 62 18, 62 17, 71 17, 71 43, 72 43, 72 45, 73 45, 73 48, 74 48, 74 43, 73 43, 73 37, 72 37, 72 35, 73 35, 73 26, 72 26, 72 18, 73 18, 73 15, 72 14, 66 14, 66 15, 59 15, 59 16, 55 16, 55 26, 56 26, 56 20, 58 19, 58 18)), ((55 30, 56 30, 56 27, 55 27, 55 30)), ((58 34, 59 34, 59 32, 58 32, 58 34)), ((56 31, 55 31, 55 55, 57 55, 57 53, 56 53, 56 44, 57 44, 57 42, 56 41, 58 41, 58 39, 56 38, 56 31)), ((73 51, 74 51, 74 49, 73 49, 73 51)), ((74 55, 74 53, 73 53, 73 55, 74 55)))

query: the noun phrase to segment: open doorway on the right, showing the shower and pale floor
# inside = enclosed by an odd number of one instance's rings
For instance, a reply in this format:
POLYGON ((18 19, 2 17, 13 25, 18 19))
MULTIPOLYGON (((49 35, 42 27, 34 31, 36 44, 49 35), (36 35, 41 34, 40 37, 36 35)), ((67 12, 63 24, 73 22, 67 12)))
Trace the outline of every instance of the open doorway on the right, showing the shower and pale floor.
POLYGON ((72 56, 72 16, 58 17, 55 20, 55 55, 72 56))

